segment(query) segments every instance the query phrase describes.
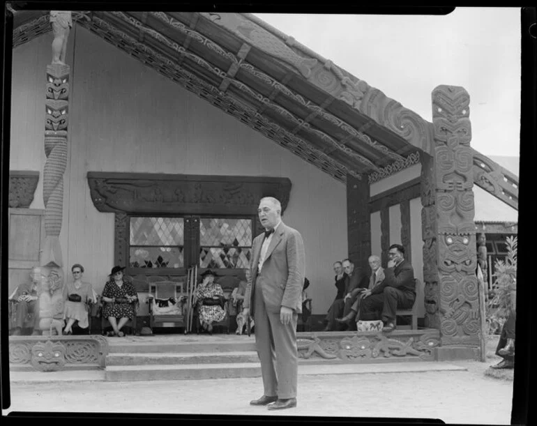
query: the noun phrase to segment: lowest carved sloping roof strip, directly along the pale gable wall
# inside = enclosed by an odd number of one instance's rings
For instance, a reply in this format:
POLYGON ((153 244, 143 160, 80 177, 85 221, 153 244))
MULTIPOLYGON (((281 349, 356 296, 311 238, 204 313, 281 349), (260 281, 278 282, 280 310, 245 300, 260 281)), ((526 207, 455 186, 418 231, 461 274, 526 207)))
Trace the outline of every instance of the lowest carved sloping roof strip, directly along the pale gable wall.
POLYGON ((91 23, 81 22, 81 24, 144 63, 151 63, 159 73, 162 73, 174 82, 178 82, 181 86, 196 93, 201 98, 209 100, 213 105, 223 109, 228 114, 241 119, 241 121, 247 123, 255 130, 262 132, 269 139, 273 139, 275 142, 285 146, 289 151, 316 165, 319 169, 338 179, 338 181, 345 182, 347 173, 361 178, 361 175, 356 171, 341 165, 340 162, 333 160, 333 158, 328 157, 322 151, 310 146, 302 138, 280 128, 279 125, 258 114, 252 107, 243 104, 236 96, 233 96, 229 92, 222 93, 218 88, 203 82, 195 75, 178 66, 174 61, 162 54, 158 54, 150 47, 138 43, 135 38, 119 31, 100 18, 93 17, 91 23), (130 48, 126 48, 126 43, 130 45, 130 48))

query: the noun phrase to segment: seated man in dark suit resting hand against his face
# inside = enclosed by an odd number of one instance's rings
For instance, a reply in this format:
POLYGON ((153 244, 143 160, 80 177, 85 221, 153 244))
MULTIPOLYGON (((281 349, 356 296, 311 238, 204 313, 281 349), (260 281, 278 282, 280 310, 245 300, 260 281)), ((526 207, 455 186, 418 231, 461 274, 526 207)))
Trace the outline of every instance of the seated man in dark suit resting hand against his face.
POLYGON ((359 319, 378 319, 371 316, 381 310, 381 319, 384 322, 382 330, 386 332, 395 330, 395 312, 398 307, 410 309, 416 300, 414 268, 404 259, 404 247, 392 244, 388 256, 390 261, 388 268, 384 270, 384 281, 363 293, 359 307, 359 319))

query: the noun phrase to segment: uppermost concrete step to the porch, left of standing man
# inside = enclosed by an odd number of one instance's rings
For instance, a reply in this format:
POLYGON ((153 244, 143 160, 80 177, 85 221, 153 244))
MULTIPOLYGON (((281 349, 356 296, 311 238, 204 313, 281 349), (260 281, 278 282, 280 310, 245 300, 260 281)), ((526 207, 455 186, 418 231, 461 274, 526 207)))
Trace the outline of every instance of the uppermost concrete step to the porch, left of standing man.
POLYGON ((171 340, 167 342, 130 342, 108 340, 108 353, 214 353, 214 352, 238 352, 255 351, 255 340, 246 337, 244 340, 222 341, 181 341, 171 340), (248 339, 248 340, 247 340, 248 339))

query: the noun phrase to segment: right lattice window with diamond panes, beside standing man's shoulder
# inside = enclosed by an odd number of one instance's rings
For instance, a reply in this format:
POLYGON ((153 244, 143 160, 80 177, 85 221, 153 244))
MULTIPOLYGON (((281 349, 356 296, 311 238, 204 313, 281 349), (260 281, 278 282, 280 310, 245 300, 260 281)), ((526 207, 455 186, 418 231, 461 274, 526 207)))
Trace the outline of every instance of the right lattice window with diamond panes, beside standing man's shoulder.
POLYGON ((199 266, 248 268, 252 256, 252 220, 201 218, 199 266))

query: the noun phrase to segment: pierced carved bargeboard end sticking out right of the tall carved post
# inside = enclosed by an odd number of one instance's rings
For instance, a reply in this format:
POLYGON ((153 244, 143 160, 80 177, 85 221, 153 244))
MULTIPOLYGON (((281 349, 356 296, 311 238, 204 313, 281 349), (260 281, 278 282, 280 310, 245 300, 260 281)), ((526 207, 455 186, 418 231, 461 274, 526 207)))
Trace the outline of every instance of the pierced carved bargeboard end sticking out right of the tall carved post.
POLYGON ((497 162, 472 149, 474 183, 518 210, 518 178, 497 162))

